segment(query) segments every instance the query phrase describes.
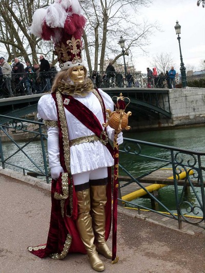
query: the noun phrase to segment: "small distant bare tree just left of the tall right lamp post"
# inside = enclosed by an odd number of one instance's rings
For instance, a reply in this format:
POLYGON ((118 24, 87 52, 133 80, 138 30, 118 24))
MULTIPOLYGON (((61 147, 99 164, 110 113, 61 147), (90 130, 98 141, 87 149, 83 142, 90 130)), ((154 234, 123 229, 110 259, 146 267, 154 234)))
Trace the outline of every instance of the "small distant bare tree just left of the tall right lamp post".
POLYGON ((166 74, 166 71, 170 70, 173 64, 173 58, 168 53, 160 53, 153 57, 152 65, 156 67, 158 73, 166 74))

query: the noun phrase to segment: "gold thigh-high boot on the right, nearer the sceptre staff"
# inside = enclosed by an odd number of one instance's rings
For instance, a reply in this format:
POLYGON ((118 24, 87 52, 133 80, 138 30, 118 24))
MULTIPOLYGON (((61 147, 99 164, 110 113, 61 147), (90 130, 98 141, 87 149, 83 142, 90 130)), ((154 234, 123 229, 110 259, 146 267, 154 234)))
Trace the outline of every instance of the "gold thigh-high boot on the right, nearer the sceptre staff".
POLYGON ((112 251, 105 240, 107 182, 108 178, 90 180, 91 215, 97 252, 107 259, 112 259, 112 251))

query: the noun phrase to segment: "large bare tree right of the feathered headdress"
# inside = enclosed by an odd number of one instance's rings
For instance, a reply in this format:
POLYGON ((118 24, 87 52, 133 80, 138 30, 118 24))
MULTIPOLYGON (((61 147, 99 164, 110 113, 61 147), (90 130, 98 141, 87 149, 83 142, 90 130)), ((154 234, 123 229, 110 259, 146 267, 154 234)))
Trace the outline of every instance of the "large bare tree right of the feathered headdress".
POLYGON ((83 35, 89 70, 103 70, 104 60, 112 59, 112 64, 122 56, 119 45, 120 36, 126 40, 125 55, 136 49, 145 51, 149 38, 157 24, 137 21, 137 8, 148 5, 150 0, 91 0, 80 1, 87 17, 87 27, 83 35), (93 60, 93 61, 92 61, 93 60))

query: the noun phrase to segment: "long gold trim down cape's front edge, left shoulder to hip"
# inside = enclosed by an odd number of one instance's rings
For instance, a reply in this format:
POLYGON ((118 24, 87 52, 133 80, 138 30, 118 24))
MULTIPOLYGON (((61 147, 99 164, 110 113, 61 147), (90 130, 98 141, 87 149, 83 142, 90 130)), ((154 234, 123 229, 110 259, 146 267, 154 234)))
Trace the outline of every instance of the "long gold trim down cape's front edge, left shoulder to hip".
POLYGON ((68 126, 66 122, 66 114, 64 110, 64 103, 63 98, 59 91, 56 92, 56 100, 58 104, 58 114, 60 119, 60 127, 63 135, 63 142, 64 142, 64 158, 66 169, 68 170, 69 174, 71 173, 70 170, 70 145, 69 145, 69 134, 68 134, 68 126))

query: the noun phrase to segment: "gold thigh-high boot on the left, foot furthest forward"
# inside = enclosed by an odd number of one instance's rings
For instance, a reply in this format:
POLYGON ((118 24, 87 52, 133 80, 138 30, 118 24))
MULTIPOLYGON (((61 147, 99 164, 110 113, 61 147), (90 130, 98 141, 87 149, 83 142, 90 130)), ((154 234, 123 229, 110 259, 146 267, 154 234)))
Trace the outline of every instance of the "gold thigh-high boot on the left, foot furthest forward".
POLYGON ((89 182, 75 186, 77 196, 78 216, 76 220, 77 229, 83 241, 89 257, 91 267, 96 271, 103 271, 105 265, 100 260, 94 245, 94 233, 92 218, 90 215, 90 188, 89 182))

